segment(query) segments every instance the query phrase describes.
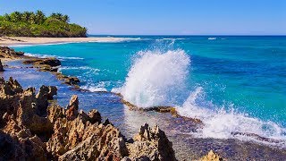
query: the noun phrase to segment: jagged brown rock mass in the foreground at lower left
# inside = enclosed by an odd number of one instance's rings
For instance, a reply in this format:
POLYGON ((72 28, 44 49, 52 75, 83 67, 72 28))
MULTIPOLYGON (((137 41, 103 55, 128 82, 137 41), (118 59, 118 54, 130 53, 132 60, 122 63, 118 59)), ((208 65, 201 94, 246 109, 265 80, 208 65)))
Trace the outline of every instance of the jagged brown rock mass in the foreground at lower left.
POLYGON ((0 78, 0 160, 175 160, 172 143, 157 126, 146 124, 127 141, 108 119, 101 123, 97 110, 78 112, 76 95, 66 109, 48 106, 55 93, 42 86, 36 96, 34 88, 0 78))

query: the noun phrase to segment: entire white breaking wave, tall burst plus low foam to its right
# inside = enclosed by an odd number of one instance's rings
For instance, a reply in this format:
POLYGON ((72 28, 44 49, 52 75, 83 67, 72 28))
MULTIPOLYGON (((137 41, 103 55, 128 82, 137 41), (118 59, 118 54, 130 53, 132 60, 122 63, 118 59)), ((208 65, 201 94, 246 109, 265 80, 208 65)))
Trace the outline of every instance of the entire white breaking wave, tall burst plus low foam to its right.
POLYGON ((178 101, 186 89, 190 59, 185 51, 140 51, 122 88, 114 89, 131 104, 140 107, 175 106, 178 113, 198 118, 203 126, 191 132, 198 138, 254 140, 286 148, 286 129, 277 123, 262 121, 248 114, 225 110, 206 100, 206 92, 197 87, 189 97, 178 101))

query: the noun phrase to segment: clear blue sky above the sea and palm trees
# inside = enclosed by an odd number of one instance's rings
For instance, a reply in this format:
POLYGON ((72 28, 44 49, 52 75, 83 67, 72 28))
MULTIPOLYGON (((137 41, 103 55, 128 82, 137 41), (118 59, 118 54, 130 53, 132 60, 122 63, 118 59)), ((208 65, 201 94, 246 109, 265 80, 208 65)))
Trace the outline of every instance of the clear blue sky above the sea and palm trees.
POLYGON ((286 0, 0 0, 0 14, 36 10, 97 35, 286 35, 286 0))

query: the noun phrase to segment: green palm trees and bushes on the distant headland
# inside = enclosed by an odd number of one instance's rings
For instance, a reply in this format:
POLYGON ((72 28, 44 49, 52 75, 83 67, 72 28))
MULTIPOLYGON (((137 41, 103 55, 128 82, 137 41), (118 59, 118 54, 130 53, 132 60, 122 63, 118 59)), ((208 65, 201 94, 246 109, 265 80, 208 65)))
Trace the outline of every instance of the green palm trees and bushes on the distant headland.
POLYGON ((62 13, 50 16, 37 11, 14 12, 0 15, 0 36, 11 37, 87 37, 87 29, 69 23, 70 17, 62 13))

